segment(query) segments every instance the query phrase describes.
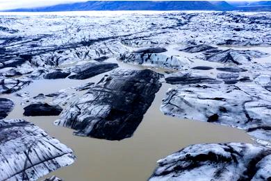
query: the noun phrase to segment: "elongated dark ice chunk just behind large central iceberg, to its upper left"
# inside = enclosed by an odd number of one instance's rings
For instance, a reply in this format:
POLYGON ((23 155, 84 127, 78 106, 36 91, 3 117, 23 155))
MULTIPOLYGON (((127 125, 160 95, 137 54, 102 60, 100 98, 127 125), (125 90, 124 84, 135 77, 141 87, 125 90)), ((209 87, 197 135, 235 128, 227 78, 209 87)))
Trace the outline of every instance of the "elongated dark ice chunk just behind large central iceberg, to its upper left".
POLYGON ((72 69, 72 72, 75 74, 69 76, 71 79, 87 79, 93 76, 97 76, 98 74, 102 74, 106 71, 113 70, 117 68, 117 64, 113 63, 104 63, 104 62, 90 62, 88 64, 79 65, 72 69))

